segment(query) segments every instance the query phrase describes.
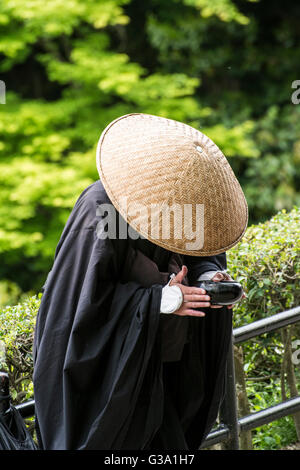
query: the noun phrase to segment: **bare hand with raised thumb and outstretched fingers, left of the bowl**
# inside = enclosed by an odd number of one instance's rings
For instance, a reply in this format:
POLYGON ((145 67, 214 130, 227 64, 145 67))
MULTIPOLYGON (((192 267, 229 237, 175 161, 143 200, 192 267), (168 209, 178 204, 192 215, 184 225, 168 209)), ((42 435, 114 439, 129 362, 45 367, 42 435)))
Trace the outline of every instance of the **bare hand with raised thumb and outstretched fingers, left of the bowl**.
POLYGON ((183 278, 187 275, 188 268, 182 266, 181 271, 170 281, 170 286, 178 286, 183 295, 183 302, 179 309, 173 312, 173 315, 204 317, 205 313, 194 310, 197 308, 211 307, 209 295, 200 287, 185 286, 182 284, 183 278))

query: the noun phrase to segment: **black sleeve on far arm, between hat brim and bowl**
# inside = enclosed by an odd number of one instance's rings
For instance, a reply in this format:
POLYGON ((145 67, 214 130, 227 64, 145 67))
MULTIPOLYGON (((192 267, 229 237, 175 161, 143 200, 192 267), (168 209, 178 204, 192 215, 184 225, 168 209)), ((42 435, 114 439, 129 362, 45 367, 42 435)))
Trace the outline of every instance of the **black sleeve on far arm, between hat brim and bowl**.
POLYGON ((193 283, 201 274, 207 271, 223 271, 227 269, 226 253, 214 256, 184 256, 188 268, 188 279, 193 283))

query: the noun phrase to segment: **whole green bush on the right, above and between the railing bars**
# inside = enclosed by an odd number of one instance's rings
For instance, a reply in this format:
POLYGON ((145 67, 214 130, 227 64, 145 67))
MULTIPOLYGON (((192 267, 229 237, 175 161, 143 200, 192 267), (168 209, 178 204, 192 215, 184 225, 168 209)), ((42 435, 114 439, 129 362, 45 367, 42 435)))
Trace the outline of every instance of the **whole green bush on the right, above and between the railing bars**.
MULTIPOLYGON (((300 208, 289 213, 283 210, 264 224, 249 227, 228 258, 229 272, 240 280, 247 293, 247 299, 234 309, 235 327, 298 306, 300 208)), ((243 344, 251 412, 297 394, 300 370, 292 364, 291 344, 299 338, 299 324, 295 324, 243 344)), ((254 448, 279 449, 297 440, 299 417, 295 415, 294 421, 285 417, 254 430, 254 448)))

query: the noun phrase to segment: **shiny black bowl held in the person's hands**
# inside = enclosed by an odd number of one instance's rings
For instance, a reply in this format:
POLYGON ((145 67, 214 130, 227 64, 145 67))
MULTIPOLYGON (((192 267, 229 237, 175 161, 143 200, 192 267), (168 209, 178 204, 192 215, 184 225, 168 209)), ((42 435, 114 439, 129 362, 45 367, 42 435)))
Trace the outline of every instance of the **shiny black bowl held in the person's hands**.
POLYGON ((243 295, 243 288, 236 281, 198 281, 195 286, 205 289, 211 305, 231 305, 243 295))

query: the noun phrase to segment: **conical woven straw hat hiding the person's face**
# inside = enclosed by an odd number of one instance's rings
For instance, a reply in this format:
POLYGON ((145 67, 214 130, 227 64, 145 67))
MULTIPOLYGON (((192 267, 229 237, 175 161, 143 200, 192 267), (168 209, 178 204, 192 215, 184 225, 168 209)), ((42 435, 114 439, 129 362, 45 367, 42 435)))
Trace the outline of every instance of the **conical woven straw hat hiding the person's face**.
POLYGON ((246 230, 247 202, 227 159, 191 126, 148 114, 121 116, 101 134, 97 169, 133 232, 169 251, 222 253, 246 230))

